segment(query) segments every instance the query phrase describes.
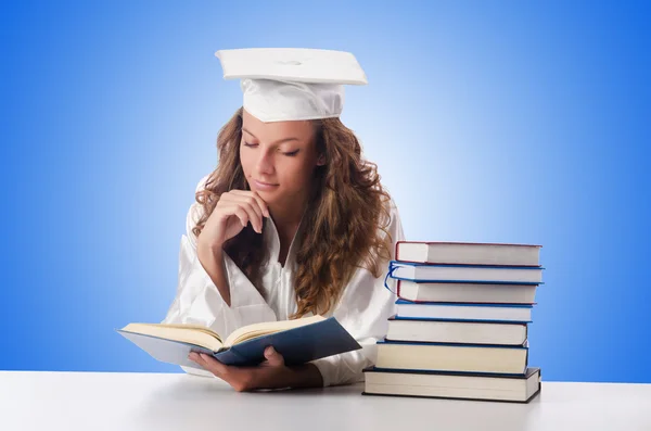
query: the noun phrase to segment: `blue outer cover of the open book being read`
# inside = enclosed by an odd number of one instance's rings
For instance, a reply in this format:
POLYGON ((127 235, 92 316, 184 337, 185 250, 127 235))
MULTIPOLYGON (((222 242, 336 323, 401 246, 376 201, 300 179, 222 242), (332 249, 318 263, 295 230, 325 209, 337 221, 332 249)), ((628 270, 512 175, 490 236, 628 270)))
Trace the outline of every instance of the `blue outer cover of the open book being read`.
POLYGON ((265 348, 273 346, 286 365, 299 365, 361 348, 334 318, 257 337, 214 352, 201 345, 118 329, 118 333, 149 353, 154 359, 191 368, 201 367, 188 359, 190 352, 206 353, 226 365, 255 366, 265 360, 265 348))

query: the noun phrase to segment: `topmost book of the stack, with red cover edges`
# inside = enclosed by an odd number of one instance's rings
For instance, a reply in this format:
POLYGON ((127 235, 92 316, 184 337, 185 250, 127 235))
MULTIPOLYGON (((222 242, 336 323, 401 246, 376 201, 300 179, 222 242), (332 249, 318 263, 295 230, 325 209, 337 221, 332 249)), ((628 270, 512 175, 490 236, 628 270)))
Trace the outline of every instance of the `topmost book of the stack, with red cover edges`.
POLYGON ((538 266, 540 245, 399 241, 396 261, 432 264, 538 266))

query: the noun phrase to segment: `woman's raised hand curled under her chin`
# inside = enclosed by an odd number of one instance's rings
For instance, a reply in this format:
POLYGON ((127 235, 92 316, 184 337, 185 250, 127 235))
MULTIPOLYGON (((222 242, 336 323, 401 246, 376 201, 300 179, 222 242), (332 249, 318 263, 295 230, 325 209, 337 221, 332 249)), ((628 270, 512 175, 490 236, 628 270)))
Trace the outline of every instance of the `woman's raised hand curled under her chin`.
POLYGON ((263 217, 269 217, 269 208, 259 194, 248 190, 231 190, 219 198, 197 243, 220 251, 224 243, 240 233, 248 223, 256 232, 261 233, 263 217))

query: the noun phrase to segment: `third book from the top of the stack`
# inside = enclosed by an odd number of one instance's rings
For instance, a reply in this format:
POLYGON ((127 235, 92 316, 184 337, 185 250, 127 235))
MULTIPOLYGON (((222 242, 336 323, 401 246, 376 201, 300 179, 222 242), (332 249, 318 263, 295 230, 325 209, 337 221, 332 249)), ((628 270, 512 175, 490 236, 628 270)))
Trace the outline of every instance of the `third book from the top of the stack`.
POLYGON ((398 295, 419 302, 533 304, 536 284, 451 283, 398 280, 398 295))

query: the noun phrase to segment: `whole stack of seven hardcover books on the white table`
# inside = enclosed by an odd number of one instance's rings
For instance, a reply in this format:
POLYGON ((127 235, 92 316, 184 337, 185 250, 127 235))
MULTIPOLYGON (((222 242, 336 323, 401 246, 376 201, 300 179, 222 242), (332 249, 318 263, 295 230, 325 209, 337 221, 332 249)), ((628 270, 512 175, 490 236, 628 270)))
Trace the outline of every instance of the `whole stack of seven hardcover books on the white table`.
POLYGON ((396 244, 397 314, 365 370, 365 395, 527 403, 540 390, 527 328, 540 245, 396 244))

